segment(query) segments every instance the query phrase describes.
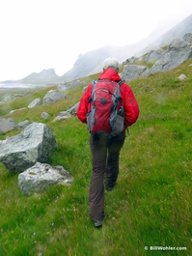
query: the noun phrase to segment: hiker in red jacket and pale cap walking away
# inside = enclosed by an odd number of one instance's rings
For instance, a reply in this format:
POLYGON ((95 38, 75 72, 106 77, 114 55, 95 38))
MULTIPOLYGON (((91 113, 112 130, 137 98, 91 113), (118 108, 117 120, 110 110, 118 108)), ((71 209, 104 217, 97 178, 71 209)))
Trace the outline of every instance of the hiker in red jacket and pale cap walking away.
MULTIPOLYGON (((95 227, 101 227, 102 219, 104 217, 104 185, 107 191, 110 191, 116 185, 119 174, 119 156, 123 147, 125 130, 136 122, 139 116, 139 107, 130 87, 123 83, 119 75, 119 62, 113 57, 107 58, 103 63, 103 71, 99 75, 97 82, 93 82, 86 89, 83 97, 80 100, 77 117, 85 124, 88 124, 90 130, 90 148, 92 152, 92 178, 89 187, 89 203, 90 203, 90 215, 95 223, 95 227), (118 84, 119 83, 119 84, 118 84), (100 92, 105 92, 106 97, 115 97, 116 91, 109 94, 107 86, 119 85, 121 93, 121 102, 123 107, 123 128, 120 131, 116 129, 113 132, 112 128, 102 128, 100 130, 94 130, 95 124, 102 125, 104 122, 104 113, 101 113, 100 117, 96 121, 91 122, 88 120, 88 115, 92 112, 92 108, 96 108, 94 102, 93 92, 96 94, 96 88, 99 86, 105 87, 100 92)), ((118 88, 118 87, 117 87, 118 88)), ((113 89, 114 90, 114 89, 113 89)), ((120 100, 120 99, 118 99, 120 100)), ((100 99, 101 108, 95 109, 96 115, 99 111, 104 111, 107 100, 100 99)), ((98 102, 99 103, 99 102, 98 102)), ((120 107, 120 103, 119 103, 120 107)), ((110 110, 111 111, 111 110, 110 110)), ((116 111, 117 112, 117 111, 116 111)), ((107 121, 109 124, 109 121, 107 121)), ((105 125, 106 127, 106 125, 105 125)), ((108 125, 109 127, 109 125, 108 125)), ((119 129, 119 125, 116 126, 119 129)), ((99 128, 98 128, 99 129, 99 128)))

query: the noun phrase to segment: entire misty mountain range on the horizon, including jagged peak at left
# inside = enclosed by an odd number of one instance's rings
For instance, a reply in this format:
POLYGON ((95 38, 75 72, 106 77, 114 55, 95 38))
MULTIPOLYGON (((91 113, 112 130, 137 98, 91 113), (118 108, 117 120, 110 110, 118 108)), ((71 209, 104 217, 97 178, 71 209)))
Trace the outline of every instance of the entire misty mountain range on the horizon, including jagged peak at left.
MULTIPOLYGON (((159 33, 162 33, 162 31, 159 31, 159 33)), ((17 81, 7 82, 19 82, 23 84, 52 84, 75 80, 77 78, 100 72, 102 71, 104 59, 109 56, 116 57, 120 63, 123 63, 126 59, 132 56, 142 56, 151 50, 170 44, 176 38, 182 38, 186 33, 192 33, 192 14, 187 16, 165 34, 159 35, 159 33, 157 30, 154 30, 148 38, 138 43, 132 43, 125 46, 108 45, 85 54, 80 54, 74 63, 73 68, 62 76, 57 75, 54 69, 49 69, 41 72, 33 72, 17 81)))

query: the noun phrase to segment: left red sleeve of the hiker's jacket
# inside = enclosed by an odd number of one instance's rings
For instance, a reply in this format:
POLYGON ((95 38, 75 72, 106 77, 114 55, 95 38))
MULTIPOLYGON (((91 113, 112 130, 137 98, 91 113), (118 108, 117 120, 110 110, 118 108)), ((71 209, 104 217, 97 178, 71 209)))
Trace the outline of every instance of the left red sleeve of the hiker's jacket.
POLYGON ((90 94, 90 87, 91 85, 88 86, 85 93, 83 94, 76 112, 78 119, 82 123, 86 123, 86 124, 87 124, 88 98, 90 94))

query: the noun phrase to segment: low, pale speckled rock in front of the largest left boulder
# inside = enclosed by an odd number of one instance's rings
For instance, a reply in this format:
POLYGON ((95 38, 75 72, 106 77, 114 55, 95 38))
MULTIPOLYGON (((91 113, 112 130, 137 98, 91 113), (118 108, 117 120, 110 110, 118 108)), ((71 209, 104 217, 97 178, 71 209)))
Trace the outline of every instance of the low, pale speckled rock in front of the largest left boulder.
POLYGON ((62 166, 50 166, 37 162, 34 166, 18 175, 21 192, 39 192, 50 185, 70 185, 73 177, 62 166))

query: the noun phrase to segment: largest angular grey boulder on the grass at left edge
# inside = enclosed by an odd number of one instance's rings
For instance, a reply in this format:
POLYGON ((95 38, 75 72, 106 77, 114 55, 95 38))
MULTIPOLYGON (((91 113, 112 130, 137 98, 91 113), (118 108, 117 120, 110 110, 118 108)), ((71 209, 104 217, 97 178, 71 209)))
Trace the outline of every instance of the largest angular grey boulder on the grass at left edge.
POLYGON ((44 124, 33 123, 1 143, 0 161, 11 172, 19 173, 37 161, 48 162, 56 146, 51 129, 44 124))

